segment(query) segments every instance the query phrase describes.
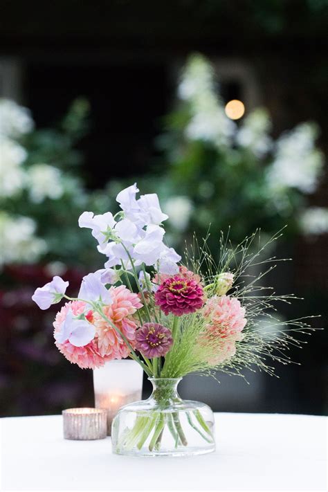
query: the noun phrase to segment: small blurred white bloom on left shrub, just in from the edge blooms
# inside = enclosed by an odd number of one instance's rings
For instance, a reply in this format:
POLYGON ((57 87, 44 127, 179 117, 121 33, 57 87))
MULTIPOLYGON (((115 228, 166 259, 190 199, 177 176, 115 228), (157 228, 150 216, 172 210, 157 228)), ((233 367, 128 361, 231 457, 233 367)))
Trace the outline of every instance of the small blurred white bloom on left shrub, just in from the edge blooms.
POLYGON ((52 165, 34 164, 27 171, 30 200, 42 203, 44 199, 57 200, 64 194, 62 172, 52 165))

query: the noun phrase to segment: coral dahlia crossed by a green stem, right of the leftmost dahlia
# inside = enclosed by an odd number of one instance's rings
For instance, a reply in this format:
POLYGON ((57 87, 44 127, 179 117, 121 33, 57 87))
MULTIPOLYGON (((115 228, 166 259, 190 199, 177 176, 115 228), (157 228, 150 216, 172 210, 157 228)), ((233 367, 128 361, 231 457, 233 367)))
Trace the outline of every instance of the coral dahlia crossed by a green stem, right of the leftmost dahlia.
MULTIPOLYGON (((137 325, 131 315, 143 307, 143 304, 138 295, 129 291, 124 285, 111 286, 109 293, 113 302, 105 306, 103 311, 134 348, 137 325)), ((98 335, 98 349, 101 355, 110 359, 125 358, 129 355, 129 347, 123 338, 99 313, 93 314, 93 325, 98 335)))

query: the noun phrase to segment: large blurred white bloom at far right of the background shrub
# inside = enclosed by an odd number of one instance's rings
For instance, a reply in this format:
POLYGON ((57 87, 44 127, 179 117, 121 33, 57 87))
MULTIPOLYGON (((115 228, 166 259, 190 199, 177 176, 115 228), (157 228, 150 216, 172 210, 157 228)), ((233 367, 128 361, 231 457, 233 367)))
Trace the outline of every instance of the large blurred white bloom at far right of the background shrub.
POLYGON ((314 146, 317 133, 316 125, 302 123, 277 140, 275 158, 267 176, 271 190, 298 188, 303 193, 316 190, 324 163, 322 152, 314 146))

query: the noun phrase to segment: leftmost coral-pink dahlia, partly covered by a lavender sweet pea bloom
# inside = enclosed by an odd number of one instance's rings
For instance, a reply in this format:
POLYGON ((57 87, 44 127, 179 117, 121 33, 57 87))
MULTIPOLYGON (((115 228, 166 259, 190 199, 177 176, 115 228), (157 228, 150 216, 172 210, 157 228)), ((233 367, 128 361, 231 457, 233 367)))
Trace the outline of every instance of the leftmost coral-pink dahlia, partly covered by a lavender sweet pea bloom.
MULTIPOLYGON (((86 303, 82 301, 66 302, 62 309, 57 313, 53 326, 55 328, 54 333, 57 333, 62 329, 62 324, 66 319, 68 311, 73 311, 73 314, 78 316, 84 313, 86 310, 86 303)), ((86 318, 91 321, 92 311, 86 313, 86 318)), ((93 338, 90 343, 84 345, 84 347, 75 347, 66 340, 64 343, 58 343, 55 340, 56 347, 62 352, 62 354, 73 364, 78 364, 82 369, 94 369, 95 367, 101 367, 106 361, 110 360, 110 357, 102 356, 98 349, 97 338, 93 338)))

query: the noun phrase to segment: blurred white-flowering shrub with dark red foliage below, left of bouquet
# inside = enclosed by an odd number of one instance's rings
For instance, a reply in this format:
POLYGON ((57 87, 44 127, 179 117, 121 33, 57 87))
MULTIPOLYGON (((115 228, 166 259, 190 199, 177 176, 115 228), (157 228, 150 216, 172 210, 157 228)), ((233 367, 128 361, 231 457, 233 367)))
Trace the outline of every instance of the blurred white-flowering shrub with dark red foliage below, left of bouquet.
POLYGON ((87 129, 88 112, 89 104, 78 99, 57 127, 36 129, 28 109, 0 100, 4 415, 93 405, 91 374, 67 363, 53 344, 57 307, 40 312, 31 300, 37 286, 53 275, 64 275, 72 291, 78 291, 82 275, 100 262, 91 235, 77 229, 84 210, 103 212, 109 206, 104 192, 87 192, 81 178, 82 155, 75 147, 87 129))

